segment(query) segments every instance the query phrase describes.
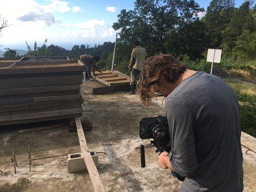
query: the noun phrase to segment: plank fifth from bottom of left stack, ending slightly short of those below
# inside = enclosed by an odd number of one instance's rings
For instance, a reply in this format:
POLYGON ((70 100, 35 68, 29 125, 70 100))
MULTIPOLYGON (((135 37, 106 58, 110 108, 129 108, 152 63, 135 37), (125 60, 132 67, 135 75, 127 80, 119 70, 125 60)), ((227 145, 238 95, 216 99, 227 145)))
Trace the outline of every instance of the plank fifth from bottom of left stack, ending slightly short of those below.
POLYGON ((69 95, 69 96, 44 96, 44 97, 0 100, 0 105, 38 103, 38 102, 70 100, 70 99, 80 99, 80 94, 69 95))

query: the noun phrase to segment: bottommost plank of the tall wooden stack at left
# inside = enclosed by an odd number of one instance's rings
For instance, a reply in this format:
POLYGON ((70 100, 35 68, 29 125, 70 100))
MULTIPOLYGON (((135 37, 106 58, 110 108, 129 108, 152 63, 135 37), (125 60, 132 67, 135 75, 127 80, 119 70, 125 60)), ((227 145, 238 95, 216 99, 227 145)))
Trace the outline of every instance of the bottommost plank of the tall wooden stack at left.
POLYGON ((54 117, 52 116, 52 117, 36 118, 36 119, 28 119, 28 120, 11 120, 11 121, 3 121, 3 122, 0 121, 0 126, 39 122, 39 121, 46 121, 46 120, 61 120, 61 119, 68 119, 68 118, 81 117, 81 116, 82 116, 82 113, 77 113, 77 114, 61 115, 61 116, 54 116, 54 117))

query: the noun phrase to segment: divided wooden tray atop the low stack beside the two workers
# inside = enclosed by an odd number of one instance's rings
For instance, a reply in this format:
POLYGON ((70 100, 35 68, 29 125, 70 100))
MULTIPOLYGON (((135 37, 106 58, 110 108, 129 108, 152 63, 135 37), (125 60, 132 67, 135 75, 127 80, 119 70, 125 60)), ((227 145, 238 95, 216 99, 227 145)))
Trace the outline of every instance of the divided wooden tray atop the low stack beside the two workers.
POLYGON ((95 75, 92 75, 98 82, 109 86, 129 85, 131 78, 122 72, 109 70, 103 70, 101 72, 96 71, 95 75))

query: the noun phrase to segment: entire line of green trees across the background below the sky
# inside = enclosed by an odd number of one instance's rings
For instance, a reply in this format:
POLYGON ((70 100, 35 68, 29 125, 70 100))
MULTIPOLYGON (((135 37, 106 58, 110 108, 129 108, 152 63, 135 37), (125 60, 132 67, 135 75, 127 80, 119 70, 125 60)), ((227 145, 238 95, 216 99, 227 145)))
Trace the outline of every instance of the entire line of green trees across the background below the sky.
MULTIPOLYGON (((115 63, 126 66, 134 39, 139 39, 149 56, 171 53, 183 60, 200 60, 207 48, 221 48, 233 59, 256 59, 256 5, 246 0, 236 8, 234 0, 212 0, 206 14, 195 0, 136 0, 134 10, 122 10, 113 28, 118 31, 115 63)), ((47 41, 46 41, 47 42, 47 41)), ((50 45, 28 47, 28 55, 69 56, 98 55, 100 67, 111 64, 114 44, 75 45, 71 50, 50 45)), ((8 54, 8 53, 7 53, 8 54)), ((5 55, 7 56, 7 55, 5 55)))

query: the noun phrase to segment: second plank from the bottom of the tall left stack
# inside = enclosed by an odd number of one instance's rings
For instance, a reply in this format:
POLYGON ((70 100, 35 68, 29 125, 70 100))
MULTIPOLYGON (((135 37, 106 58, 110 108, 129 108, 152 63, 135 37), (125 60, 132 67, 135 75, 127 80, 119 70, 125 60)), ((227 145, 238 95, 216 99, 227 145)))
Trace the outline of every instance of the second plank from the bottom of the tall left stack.
POLYGON ((61 115, 78 114, 78 113, 83 113, 82 107, 79 108, 79 109, 68 109, 68 110, 41 112, 41 113, 33 113, 33 114, 1 116, 0 121, 38 119, 38 118, 45 118, 45 117, 54 117, 54 116, 61 116, 61 115))

